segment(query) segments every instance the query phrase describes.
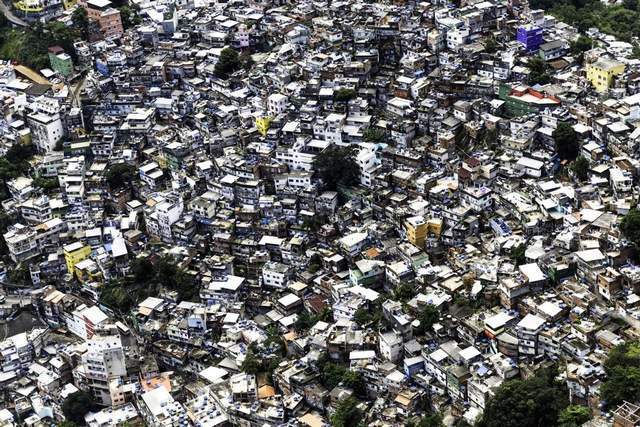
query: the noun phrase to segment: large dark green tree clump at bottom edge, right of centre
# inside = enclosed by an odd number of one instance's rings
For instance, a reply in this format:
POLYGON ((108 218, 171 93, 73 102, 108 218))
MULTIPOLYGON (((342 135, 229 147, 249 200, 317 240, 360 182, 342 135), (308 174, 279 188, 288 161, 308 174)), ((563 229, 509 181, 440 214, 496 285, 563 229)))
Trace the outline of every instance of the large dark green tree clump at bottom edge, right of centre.
POLYGON ((566 388, 554 379, 554 370, 526 380, 510 380, 500 385, 485 406, 478 427, 555 426, 568 406, 566 388))

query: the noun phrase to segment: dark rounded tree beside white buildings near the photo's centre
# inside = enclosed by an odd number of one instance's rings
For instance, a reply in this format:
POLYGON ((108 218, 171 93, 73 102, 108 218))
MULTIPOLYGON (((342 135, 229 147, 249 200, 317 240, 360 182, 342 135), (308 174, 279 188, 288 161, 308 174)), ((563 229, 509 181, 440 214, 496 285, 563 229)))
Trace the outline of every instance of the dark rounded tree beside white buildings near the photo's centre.
POLYGON ((327 148, 313 160, 313 169, 329 190, 355 185, 360 176, 353 147, 327 148))

